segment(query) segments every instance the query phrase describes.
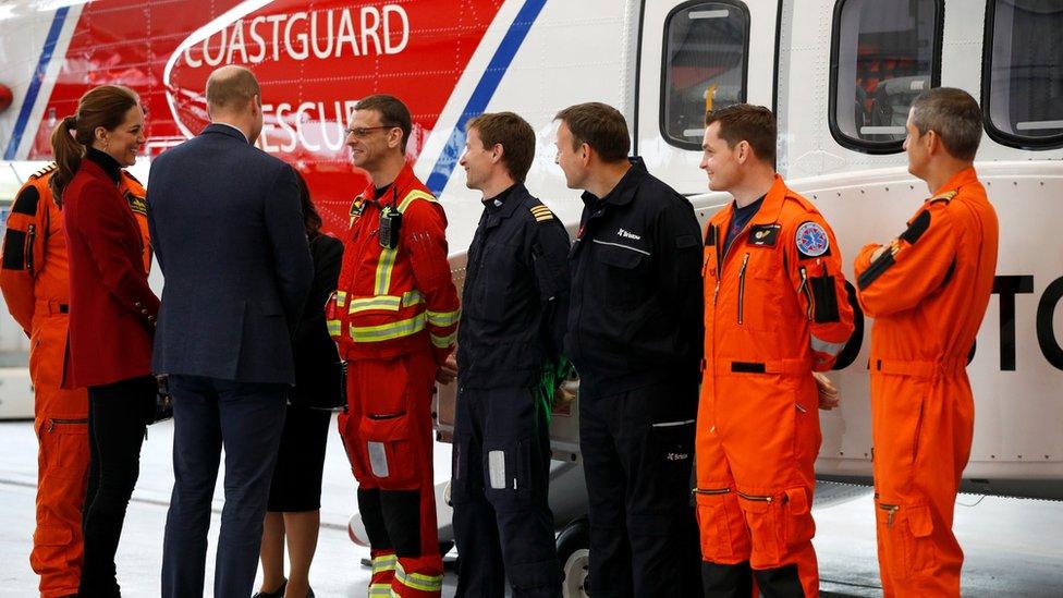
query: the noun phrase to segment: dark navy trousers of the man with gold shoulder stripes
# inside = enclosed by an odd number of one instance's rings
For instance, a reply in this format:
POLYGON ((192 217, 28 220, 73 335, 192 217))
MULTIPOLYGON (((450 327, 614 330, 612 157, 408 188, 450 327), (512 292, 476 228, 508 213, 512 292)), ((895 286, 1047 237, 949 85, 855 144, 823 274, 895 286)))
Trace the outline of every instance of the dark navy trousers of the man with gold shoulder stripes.
POLYGON ((460 389, 451 501, 457 597, 560 598, 550 430, 530 389, 460 389))

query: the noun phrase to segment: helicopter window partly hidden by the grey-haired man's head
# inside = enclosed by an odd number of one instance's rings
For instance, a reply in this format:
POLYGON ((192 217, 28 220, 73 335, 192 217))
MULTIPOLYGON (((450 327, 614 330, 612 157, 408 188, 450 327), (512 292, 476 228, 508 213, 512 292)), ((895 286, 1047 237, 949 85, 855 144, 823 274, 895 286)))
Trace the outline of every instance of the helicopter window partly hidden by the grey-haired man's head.
POLYGON ((940 0, 841 0, 834 7, 830 127, 869 154, 901 151, 912 101, 940 78, 940 0))

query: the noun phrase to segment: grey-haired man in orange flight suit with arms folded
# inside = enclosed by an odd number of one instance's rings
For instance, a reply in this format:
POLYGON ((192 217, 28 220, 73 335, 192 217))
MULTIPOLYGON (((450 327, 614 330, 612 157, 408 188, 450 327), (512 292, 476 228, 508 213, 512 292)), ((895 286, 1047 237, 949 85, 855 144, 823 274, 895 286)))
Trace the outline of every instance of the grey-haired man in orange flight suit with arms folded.
POLYGON ((997 212, 973 166, 981 110, 966 91, 930 90, 908 113, 908 171, 933 193, 890 244, 856 258, 871 328, 871 439, 882 589, 960 596, 952 533, 970 455, 967 356, 997 269, 997 212))

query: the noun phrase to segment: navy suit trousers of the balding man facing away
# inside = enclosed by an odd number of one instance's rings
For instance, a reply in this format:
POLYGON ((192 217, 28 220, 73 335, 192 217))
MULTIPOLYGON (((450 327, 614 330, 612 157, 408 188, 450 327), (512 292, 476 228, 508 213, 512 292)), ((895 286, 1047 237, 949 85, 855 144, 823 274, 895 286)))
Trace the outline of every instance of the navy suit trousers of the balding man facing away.
POLYGON ((289 389, 279 383, 170 376, 174 484, 162 547, 163 598, 204 595, 210 501, 222 448, 225 505, 213 596, 251 596, 289 389))

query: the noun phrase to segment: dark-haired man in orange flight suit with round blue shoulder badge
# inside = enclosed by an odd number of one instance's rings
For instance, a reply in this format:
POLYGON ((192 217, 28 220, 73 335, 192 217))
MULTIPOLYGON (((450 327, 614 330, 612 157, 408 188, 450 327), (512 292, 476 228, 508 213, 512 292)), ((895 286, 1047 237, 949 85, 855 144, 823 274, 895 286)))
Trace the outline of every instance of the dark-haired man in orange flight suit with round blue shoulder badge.
MULTIPOLYGON (((705 362, 694 489, 705 595, 818 596, 817 406, 853 332, 834 234, 774 172, 775 120, 706 115, 701 168, 734 203, 705 236, 705 362), (819 390, 822 386, 823 390, 819 390)), ((824 408, 833 406, 824 401, 824 408)))

